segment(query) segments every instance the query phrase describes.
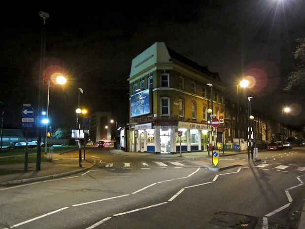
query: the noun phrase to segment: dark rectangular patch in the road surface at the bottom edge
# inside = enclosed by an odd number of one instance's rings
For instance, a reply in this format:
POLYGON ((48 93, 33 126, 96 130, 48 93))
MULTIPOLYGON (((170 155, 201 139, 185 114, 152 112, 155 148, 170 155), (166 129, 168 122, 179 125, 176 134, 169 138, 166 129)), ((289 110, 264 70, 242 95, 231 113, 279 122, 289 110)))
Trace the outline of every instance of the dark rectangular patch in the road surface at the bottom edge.
POLYGON ((254 229, 257 221, 257 217, 253 216, 230 212, 218 212, 213 215, 213 219, 209 223, 229 228, 254 229))

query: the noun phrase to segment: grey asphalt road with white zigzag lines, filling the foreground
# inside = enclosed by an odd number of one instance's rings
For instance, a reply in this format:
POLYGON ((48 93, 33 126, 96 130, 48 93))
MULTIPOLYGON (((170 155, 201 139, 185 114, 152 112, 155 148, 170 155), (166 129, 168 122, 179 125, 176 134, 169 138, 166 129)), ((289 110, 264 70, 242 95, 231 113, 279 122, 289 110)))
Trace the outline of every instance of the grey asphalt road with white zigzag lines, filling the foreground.
POLYGON ((222 172, 177 158, 113 155, 107 148, 88 147, 86 157, 97 163, 79 176, 0 189, 0 224, 20 229, 298 228, 305 199, 304 148, 260 153, 261 162, 222 172))

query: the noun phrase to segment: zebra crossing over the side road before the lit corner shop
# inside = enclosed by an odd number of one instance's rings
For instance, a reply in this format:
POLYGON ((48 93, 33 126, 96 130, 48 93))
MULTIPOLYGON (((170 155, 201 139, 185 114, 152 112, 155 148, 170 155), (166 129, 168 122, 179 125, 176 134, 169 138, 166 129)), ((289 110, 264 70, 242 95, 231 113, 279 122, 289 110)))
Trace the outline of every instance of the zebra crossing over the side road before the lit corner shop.
MULTIPOLYGON (((103 162, 102 160, 98 162, 99 166, 106 169, 133 169, 134 167, 140 169, 150 169, 150 168, 186 168, 186 167, 196 167, 193 165, 187 165, 185 161, 151 161, 151 162, 103 162)), ((199 167, 199 166, 197 166, 199 167)))

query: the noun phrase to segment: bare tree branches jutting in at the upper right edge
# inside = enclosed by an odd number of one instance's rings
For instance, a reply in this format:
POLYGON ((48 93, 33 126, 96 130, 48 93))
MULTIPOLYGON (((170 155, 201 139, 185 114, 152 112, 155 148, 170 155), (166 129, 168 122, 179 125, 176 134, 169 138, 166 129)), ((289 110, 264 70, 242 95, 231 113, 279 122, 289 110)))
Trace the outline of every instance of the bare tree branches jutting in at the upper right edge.
MULTIPOLYGON (((296 86, 305 86, 305 38, 298 38, 296 51, 293 53, 296 59, 296 64, 293 67, 293 71, 287 77, 287 84, 284 87, 284 91, 291 91, 296 86)), ((303 88, 302 88, 303 89, 303 88)))

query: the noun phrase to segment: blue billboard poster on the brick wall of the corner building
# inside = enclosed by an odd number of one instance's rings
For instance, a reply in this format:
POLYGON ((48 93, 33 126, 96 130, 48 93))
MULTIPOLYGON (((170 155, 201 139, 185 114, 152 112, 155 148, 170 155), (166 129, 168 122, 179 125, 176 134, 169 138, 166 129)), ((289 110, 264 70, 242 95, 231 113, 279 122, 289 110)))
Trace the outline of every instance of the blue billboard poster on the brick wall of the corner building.
POLYGON ((149 106, 149 89, 138 92, 135 95, 130 96, 130 116, 135 117, 142 114, 150 113, 149 106))

